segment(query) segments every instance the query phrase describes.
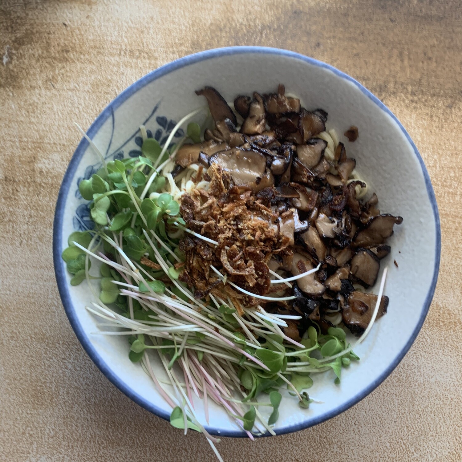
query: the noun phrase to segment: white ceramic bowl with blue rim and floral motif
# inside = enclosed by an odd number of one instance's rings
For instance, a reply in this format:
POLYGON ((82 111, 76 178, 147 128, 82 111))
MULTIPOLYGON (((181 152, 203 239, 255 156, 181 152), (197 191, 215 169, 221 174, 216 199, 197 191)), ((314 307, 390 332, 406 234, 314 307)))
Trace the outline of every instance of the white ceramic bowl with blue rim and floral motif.
MULTIPOLYGON (((359 172, 377 192, 380 210, 401 215, 404 222, 395 226, 389 240, 392 252, 382 264, 389 266, 388 313, 357 348, 361 360, 343 371, 340 385, 335 385, 328 373, 314 377, 309 394, 323 404, 313 403, 304 410, 293 397, 284 395, 274 427, 278 434, 313 426, 363 399, 395 369, 419 333, 437 281, 440 226, 430 178, 413 141, 390 110, 348 75, 303 55, 259 47, 209 50, 160 67, 116 97, 87 132, 106 159, 138 156, 140 124, 162 143, 177 120, 204 104, 195 90, 211 85, 232 101, 241 93, 275 91, 280 82, 308 109, 328 112, 328 128, 337 130, 348 157, 356 158, 359 172), (351 125, 359 128, 354 143, 341 135, 351 125)), ((200 115, 197 121, 201 121, 200 115)), ((181 135, 179 130, 175 137, 181 135)), ((67 168, 56 205, 53 252, 59 292, 75 334, 103 374, 140 406, 168 419, 171 409, 151 378, 128 359, 127 340, 91 334, 97 330, 96 320, 85 310, 91 295, 85 282, 75 287, 69 284, 61 260, 69 234, 92 225, 78 183, 100 166, 87 141, 82 140, 67 168)), ((209 424, 200 403, 196 410, 208 432, 245 436, 221 408, 211 407, 209 424)))

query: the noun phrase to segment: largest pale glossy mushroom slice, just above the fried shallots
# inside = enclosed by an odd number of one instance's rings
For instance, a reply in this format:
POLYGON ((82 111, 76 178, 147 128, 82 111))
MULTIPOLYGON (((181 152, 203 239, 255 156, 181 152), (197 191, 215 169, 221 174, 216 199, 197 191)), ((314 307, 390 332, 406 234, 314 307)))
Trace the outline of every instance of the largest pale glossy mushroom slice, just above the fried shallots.
POLYGON ((260 152, 232 148, 213 154, 209 164, 218 164, 231 175, 236 186, 260 191, 274 184, 273 175, 266 170, 266 157, 260 152))

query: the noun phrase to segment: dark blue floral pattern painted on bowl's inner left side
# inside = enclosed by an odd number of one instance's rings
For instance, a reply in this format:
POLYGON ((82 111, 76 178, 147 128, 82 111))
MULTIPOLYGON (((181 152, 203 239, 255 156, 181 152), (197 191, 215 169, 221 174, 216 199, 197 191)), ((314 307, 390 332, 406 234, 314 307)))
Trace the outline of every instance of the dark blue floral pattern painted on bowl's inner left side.
MULTIPOLYGON (((163 146, 166 142, 168 137, 170 136, 172 130, 176 126, 176 121, 172 119, 168 119, 165 116, 156 116, 155 122, 152 123, 153 116, 157 113, 157 110, 160 106, 160 101, 154 106, 152 109, 151 114, 147 117, 143 125, 152 125, 151 128, 146 127, 146 133, 148 138, 154 138, 158 141, 158 143, 163 146), (151 122, 151 123, 149 123, 151 122), (153 134, 154 133, 154 134, 153 134)), ((104 160, 120 160, 125 156, 127 152, 128 157, 137 157, 141 155, 141 146, 143 144, 143 139, 139 135, 139 130, 137 130, 134 134, 132 134, 127 140, 125 140, 121 146, 116 148, 115 150, 111 151, 112 139, 114 137, 114 126, 115 126, 115 116, 114 116, 114 109, 111 109, 111 119, 112 119, 112 129, 111 135, 109 138, 108 146, 106 147, 106 151, 104 153, 104 160)), ((176 130, 173 138, 181 138, 184 136, 184 131, 182 128, 176 130)), ((171 143, 170 147, 175 144, 171 143)), ((94 223, 90 216, 90 202, 87 202, 83 199, 79 192, 79 183, 82 180, 88 180, 91 178, 91 175, 96 173, 101 167, 103 166, 102 162, 97 162, 96 164, 88 165, 85 169, 85 173, 83 176, 79 176, 77 178, 77 188, 75 189, 75 197, 82 201, 81 204, 77 207, 75 211, 75 215, 73 216, 72 222, 75 231, 86 231, 91 230, 94 227, 94 223)))

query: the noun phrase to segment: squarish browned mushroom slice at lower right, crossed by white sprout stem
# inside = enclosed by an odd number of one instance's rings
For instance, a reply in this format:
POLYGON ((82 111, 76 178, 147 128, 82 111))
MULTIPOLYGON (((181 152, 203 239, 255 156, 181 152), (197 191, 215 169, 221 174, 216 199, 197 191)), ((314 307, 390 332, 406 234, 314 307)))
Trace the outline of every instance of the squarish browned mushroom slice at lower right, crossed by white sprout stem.
MULTIPOLYGON (((372 293, 351 292, 342 310, 342 319, 347 328, 353 334, 361 335, 366 330, 372 319, 372 313, 377 303, 377 295, 372 293)), ((389 298, 382 297, 380 301, 377 319, 387 312, 389 298)))

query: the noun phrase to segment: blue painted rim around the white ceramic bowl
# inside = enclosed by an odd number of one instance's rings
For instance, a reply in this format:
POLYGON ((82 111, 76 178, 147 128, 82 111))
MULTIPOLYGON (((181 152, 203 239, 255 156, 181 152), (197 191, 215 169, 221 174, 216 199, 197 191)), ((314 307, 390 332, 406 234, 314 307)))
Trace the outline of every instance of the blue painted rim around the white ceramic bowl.
MULTIPOLYGON (((321 422, 331 419, 337 416, 338 414, 346 411, 348 408, 352 407, 353 405, 361 401, 363 398, 369 395, 374 389, 376 389, 390 375, 390 373, 395 369, 395 367, 401 362, 401 359, 403 359, 404 355, 407 353, 407 351, 413 344, 415 338, 417 337, 417 334, 419 334, 420 328, 422 327, 422 324, 425 321, 426 315, 430 308, 430 304, 432 302, 433 293, 435 292, 435 287, 436 287, 436 283, 438 279, 439 261, 440 261, 440 253, 441 253, 441 230, 440 230, 440 221, 439 221, 439 214, 438 214, 438 205, 436 202, 435 193, 432 188, 432 183, 430 181, 430 176, 428 175, 424 161, 422 160, 422 157, 420 156, 420 153, 417 150, 417 147, 414 145, 413 141, 411 140, 411 137, 409 136, 405 128, 401 125, 401 123, 396 118, 396 116, 369 90, 367 90, 363 85, 361 85, 359 82, 357 82, 355 79, 353 79, 349 75, 346 75, 345 73, 339 71, 338 69, 332 66, 329 66, 326 63, 317 61, 313 58, 309 58, 304 55, 300 55, 293 51, 282 50, 282 49, 277 49, 277 48, 266 48, 266 47, 219 48, 219 49, 202 51, 194 55, 188 55, 188 56, 185 56, 184 58, 180 58, 176 61, 165 64, 164 66, 159 67, 158 69, 146 74, 140 80, 136 81, 133 85, 130 85, 126 90, 122 91, 122 93, 119 96, 117 96, 111 103, 109 103, 109 105, 103 110, 103 112, 97 117, 95 122, 93 122, 91 127, 88 129, 88 132, 87 132, 88 136, 90 138, 93 138, 93 136, 98 132, 98 130, 101 128, 101 126, 106 121, 106 119, 110 117, 111 110, 115 110, 122 103, 124 103, 129 97, 131 97, 134 93, 139 91, 141 88, 143 88, 145 85, 149 84, 153 80, 156 80, 164 76, 165 74, 175 71, 176 69, 186 67, 196 62, 205 61, 205 60, 217 57, 217 56, 236 55, 236 54, 244 54, 244 53, 281 55, 281 56, 285 56, 288 58, 295 58, 295 59, 307 62, 317 67, 328 69, 329 71, 333 72, 335 75, 341 77, 342 79, 346 79, 349 82, 356 85, 360 91, 362 91, 369 99, 371 99, 371 101, 377 104, 378 108, 386 112, 395 121, 395 123, 398 125, 398 127, 403 132, 403 134, 406 136, 407 141, 413 147, 414 153, 417 159, 419 160, 419 164, 422 169, 423 176, 425 178, 428 198, 432 205, 433 215, 435 219, 435 228, 436 228, 435 229, 436 231, 435 232, 436 234, 435 266, 434 266, 432 283, 427 293, 425 303, 422 307, 419 322, 417 323, 412 335, 410 336, 409 340, 407 341, 406 345, 403 347, 401 352, 396 356, 395 360, 387 367, 387 369, 383 371, 380 377, 378 377, 366 389, 362 390, 358 395, 354 396, 353 398, 341 404, 340 406, 336 407, 335 409, 331 410, 330 412, 324 413, 317 417, 308 418, 303 423, 290 425, 290 426, 286 426, 286 427, 275 430, 275 432, 278 435, 282 435, 285 433, 297 432, 299 430, 303 430, 305 428, 309 428, 311 426, 320 424, 321 422)), ((155 415, 158 415, 159 417, 163 419, 169 420, 170 419, 169 413, 167 413, 166 411, 164 411, 163 409, 157 406, 154 406, 152 402, 147 401, 141 395, 138 395, 137 393, 135 393, 124 382, 122 382, 119 377, 117 377, 114 374, 114 372, 109 368, 109 366, 104 362, 101 356, 97 353, 96 349, 91 345, 91 342, 89 341, 87 335, 85 334, 85 332, 82 329, 82 326, 79 323, 79 320, 76 316, 76 310, 72 304, 65 267, 61 261, 61 251, 62 251, 61 229, 63 225, 64 207, 66 203, 67 194, 69 192, 69 188, 71 185, 71 180, 74 176, 75 170, 77 169, 79 165, 79 161, 82 158, 83 154, 85 153, 85 150, 87 149, 87 147, 88 147, 88 142, 85 139, 82 139, 79 143, 79 146, 77 146, 77 149, 72 156, 69 166, 67 167, 67 171, 64 175, 61 188, 58 194, 58 200, 56 202, 55 219, 53 223, 53 261, 55 265, 55 275, 56 275, 56 281, 58 283, 58 289, 60 292, 61 301, 62 301, 62 304, 64 305, 64 310, 66 311, 67 318, 69 319, 69 322, 71 323, 71 326, 75 334, 77 335, 77 338, 79 339, 80 343, 84 347, 86 353, 88 353, 90 358, 97 365, 99 370, 102 371, 103 374, 119 390, 122 391, 122 393, 124 393, 130 399, 138 403, 141 407, 144 407, 149 412, 155 415)), ((234 437, 234 438, 247 436, 245 432, 242 432, 239 430, 217 431, 216 429, 208 427, 208 426, 206 426, 205 428, 207 432, 209 432, 212 435, 217 435, 217 436, 226 436, 226 437, 234 437)), ((269 436, 269 435, 265 434, 262 436, 269 436)))

